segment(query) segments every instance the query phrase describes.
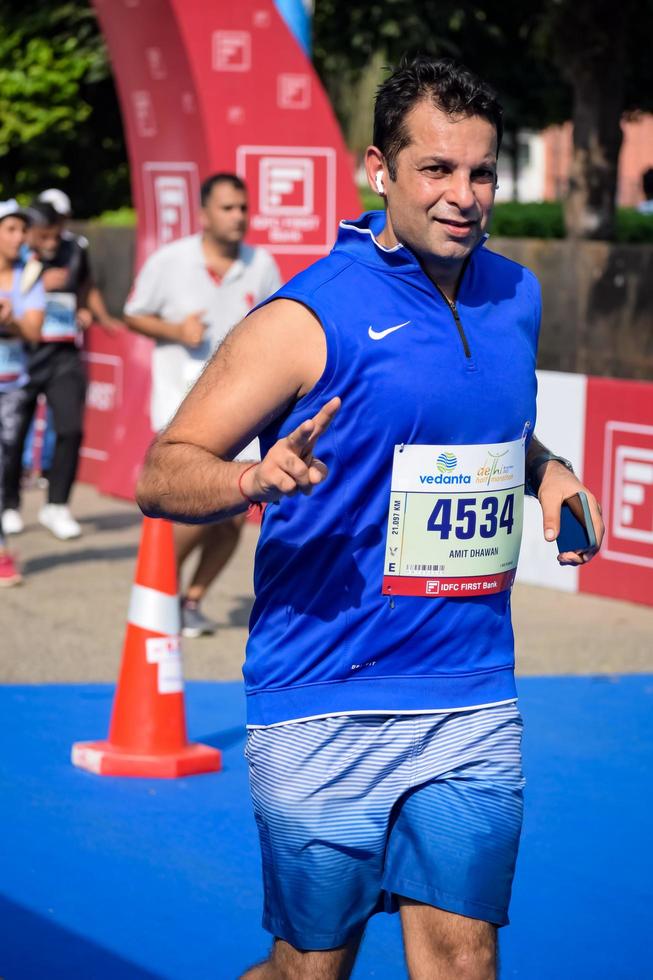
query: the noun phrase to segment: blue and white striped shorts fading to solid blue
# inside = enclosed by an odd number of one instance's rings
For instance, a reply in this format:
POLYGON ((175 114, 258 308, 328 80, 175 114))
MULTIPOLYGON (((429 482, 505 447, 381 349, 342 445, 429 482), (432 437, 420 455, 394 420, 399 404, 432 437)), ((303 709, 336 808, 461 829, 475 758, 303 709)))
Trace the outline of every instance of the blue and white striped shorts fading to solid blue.
POLYGON ((397 896, 505 925, 521 732, 514 703, 252 729, 263 927, 298 949, 331 949, 396 911, 397 896))

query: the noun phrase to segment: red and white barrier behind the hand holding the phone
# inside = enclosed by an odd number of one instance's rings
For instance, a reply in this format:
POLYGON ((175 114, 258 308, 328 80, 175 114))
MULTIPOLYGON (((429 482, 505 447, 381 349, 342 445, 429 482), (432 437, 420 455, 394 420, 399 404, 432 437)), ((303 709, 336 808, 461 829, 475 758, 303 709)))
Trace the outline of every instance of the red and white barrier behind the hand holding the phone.
POLYGON ((587 566, 560 568, 527 500, 517 580, 653 605, 653 384, 538 372, 537 435, 568 457, 603 507, 606 534, 587 566))

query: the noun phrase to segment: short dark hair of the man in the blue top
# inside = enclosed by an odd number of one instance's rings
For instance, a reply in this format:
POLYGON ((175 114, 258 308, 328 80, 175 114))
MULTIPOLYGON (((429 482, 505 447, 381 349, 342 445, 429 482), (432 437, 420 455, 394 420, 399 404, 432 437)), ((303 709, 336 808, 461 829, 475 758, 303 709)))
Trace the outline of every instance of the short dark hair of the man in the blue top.
POLYGON ((503 136, 503 108, 486 82, 449 58, 434 61, 425 55, 403 58, 383 82, 374 103, 374 145, 397 177, 397 156, 410 143, 404 125, 410 110, 423 99, 449 116, 481 116, 497 131, 497 151, 503 136))

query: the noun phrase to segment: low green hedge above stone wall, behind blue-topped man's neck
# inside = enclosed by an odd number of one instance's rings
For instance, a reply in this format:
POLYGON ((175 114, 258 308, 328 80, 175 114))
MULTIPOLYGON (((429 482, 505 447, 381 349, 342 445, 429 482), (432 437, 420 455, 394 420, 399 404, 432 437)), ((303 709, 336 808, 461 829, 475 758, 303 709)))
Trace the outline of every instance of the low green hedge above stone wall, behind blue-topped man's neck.
MULTIPOLYGON (((363 208, 371 211, 383 207, 378 194, 367 187, 359 188, 363 208)), ((497 204, 490 231, 497 238, 564 238, 565 224, 560 201, 520 204, 509 201, 497 204)), ((617 210, 617 241, 653 243, 653 215, 639 214, 634 208, 617 210)))

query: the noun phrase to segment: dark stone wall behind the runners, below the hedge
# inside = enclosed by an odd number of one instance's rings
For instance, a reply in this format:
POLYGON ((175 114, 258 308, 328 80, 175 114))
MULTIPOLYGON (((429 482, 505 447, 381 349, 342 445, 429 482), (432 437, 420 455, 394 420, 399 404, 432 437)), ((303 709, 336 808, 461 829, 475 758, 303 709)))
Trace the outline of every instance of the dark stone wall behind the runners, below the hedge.
MULTIPOLYGON (((120 315, 135 230, 75 228, 89 239, 98 285, 120 315)), ((542 283, 541 369, 653 379, 653 246, 491 238, 488 247, 528 266, 542 283)))

